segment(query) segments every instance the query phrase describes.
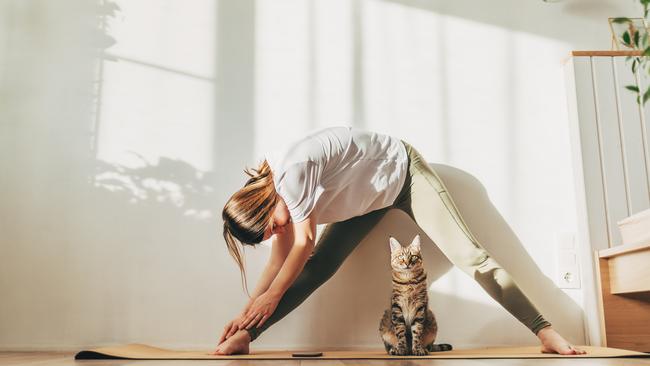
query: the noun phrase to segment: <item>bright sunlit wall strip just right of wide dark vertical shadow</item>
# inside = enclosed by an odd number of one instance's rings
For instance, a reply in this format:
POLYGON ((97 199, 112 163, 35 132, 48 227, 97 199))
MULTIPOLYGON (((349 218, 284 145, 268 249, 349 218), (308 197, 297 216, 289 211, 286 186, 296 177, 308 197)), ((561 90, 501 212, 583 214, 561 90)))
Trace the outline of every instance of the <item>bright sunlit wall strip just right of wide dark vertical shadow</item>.
POLYGON ((261 0, 255 19, 255 153, 308 130, 309 1, 261 0))

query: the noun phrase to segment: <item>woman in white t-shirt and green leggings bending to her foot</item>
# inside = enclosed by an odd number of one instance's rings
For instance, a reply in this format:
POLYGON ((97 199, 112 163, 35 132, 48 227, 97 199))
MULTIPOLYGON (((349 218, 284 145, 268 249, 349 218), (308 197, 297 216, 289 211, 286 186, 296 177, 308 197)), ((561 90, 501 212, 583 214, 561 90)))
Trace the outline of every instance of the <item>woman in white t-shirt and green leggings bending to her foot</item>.
POLYGON ((397 138, 328 128, 267 156, 223 209, 224 238, 242 272, 239 245, 272 238, 250 301, 228 323, 216 354, 249 343, 327 281, 389 209, 406 212, 457 266, 527 326, 543 352, 582 354, 547 322, 481 247, 435 171, 397 138), (328 224, 315 245, 316 224, 328 224), (313 255, 312 255, 313 250, 313 255))

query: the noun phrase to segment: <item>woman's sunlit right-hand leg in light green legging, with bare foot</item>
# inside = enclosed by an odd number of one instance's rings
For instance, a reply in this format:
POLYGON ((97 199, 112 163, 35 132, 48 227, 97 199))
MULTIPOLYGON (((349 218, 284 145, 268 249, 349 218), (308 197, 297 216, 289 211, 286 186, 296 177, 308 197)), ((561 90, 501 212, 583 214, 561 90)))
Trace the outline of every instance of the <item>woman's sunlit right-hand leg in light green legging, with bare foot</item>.
MULTIPOLYGON (((406 146, 410 159, 411 194, 396 206, 406 211, 455 265, 472 276, 492 298, 542 339, 540 331, 551 324, 517 287, 508 272, 481 247, 440 177, 415 149, 406 146)), ((566 341, 561 347, 544 344, 544 350, 575 353, 566 341)))

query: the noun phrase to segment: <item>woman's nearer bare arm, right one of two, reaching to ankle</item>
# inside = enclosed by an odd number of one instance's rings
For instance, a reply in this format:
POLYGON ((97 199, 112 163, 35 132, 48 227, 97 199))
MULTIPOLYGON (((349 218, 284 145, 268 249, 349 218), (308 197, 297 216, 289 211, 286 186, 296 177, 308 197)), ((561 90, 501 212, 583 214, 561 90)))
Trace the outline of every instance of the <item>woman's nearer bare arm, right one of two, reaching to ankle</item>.
POLYGON ((248 329, 255 325, 262 326, 266 319, 273 314, 282 295, 296 280, 314 249, 314 240, 316 238, 315 220, 308 217, 304 221, 294 223, 293 235, 293 245, 284 264, 282 264, 282 268, 280 268, 269 288, 258 296, 249 307, 240 329, 248 329))

